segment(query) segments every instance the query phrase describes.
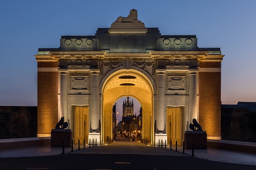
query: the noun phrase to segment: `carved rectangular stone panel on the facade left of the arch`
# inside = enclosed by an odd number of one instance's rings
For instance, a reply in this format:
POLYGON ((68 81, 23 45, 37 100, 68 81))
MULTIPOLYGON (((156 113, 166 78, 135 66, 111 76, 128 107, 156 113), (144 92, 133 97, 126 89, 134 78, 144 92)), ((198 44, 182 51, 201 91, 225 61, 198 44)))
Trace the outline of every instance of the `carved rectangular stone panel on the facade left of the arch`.
POLYGON ((89 76, 70 76, 71 90, 89 90, 89 76))

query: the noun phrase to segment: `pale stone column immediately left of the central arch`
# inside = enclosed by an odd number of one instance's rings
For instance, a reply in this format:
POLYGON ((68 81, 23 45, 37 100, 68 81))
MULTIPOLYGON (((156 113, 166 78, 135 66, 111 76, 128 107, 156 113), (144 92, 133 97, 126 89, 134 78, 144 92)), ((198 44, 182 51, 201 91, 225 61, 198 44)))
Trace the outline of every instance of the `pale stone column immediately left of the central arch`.
POLYGON ((91 87, 91 132, 98 133, 99 131, 99 70, 91 71, 92 87, 91 87))

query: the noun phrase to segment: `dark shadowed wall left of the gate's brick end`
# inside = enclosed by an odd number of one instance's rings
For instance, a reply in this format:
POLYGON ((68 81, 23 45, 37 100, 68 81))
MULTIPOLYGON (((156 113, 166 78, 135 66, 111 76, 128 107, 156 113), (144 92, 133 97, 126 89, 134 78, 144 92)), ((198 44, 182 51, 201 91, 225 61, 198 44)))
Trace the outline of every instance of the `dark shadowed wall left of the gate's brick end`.
POLYGON ((37 106, 0 106, 0 139, 36 137, 37 106))

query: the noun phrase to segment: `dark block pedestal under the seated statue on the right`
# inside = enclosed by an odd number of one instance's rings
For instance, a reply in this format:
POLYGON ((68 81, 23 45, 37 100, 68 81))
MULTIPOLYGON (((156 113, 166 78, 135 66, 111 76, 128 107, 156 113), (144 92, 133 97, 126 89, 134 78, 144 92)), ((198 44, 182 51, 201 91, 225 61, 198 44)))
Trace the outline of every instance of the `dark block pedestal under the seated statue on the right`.
POLYGON ((185 148, 192 149, 207 149, 207 134, 206 131, 185 131, 184 134, 185 148))

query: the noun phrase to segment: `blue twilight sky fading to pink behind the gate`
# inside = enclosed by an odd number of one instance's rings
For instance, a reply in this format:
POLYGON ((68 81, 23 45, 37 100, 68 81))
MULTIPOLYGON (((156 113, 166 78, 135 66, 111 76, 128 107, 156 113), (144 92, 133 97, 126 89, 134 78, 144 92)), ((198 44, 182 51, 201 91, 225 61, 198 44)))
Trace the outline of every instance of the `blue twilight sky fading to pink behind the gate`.
POLYGON ((1 1, 0 105, 37 105, 38 48, 58 48, 62 35, 95 35, 133 8, 161 35, 197 35, 198 47, 221 48, 223 104, 256 101, 255 7, 254 0, 1 1))

